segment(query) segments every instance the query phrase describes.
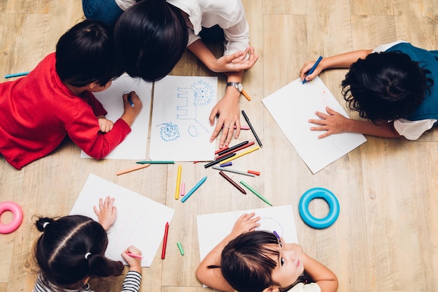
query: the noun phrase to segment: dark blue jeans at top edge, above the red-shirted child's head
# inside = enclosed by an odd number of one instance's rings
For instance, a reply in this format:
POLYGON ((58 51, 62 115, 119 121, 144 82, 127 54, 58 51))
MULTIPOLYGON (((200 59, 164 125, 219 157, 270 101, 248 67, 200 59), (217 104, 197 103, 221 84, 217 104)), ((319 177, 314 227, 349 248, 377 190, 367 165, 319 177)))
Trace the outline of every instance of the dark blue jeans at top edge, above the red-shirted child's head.
POLYGON ((114 0, 82 0, 85 17, 92 20, 101 20, 114 27, 123 10, 114 0))

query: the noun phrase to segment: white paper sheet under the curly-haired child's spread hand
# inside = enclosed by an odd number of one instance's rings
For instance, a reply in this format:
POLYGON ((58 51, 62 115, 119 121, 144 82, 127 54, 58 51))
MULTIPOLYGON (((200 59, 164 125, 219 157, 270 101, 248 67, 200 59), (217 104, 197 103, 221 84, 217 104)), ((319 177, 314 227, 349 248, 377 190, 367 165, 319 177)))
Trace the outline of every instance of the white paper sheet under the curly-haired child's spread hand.
POLYGON ((358 133, 340 133, 318 139, 323 132, 310 131, 314 125, 309 123, 309 119, 318 119, 315 112, 326 112, 326 106, 348 117, 318 77, 304 85, 298 78, 262 99, 262 103, 312 173, 317 173, 367 141, 358 133))

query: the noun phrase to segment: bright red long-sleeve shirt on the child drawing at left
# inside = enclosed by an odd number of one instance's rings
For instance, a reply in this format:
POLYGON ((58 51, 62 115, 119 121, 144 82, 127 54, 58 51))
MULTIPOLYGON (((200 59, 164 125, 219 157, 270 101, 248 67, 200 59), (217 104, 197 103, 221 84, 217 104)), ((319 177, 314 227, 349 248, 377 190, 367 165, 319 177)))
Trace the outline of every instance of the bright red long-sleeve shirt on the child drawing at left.
MULTIPOLYGON (((120 103, 122 106, 122 103, 120 103)), ((91 92, 73 94, 49 54, 24 78, 0 84, 0 154, 17 169, 52 152, 69 135, 76 145, 101 159, 131 131, 122 119, 108 133, 97 116, 106 110, 91 92)))

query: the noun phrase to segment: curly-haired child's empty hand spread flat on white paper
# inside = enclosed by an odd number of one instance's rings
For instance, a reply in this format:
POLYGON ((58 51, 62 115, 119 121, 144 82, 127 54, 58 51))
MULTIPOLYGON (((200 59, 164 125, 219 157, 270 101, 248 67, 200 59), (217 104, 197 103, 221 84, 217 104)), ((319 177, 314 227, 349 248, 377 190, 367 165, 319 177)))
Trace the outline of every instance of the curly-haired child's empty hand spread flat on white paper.
POLYGON ((318 139, 328 137, 332 134, 344 133, 347 131, 346 125, 348 123, 348 118, 335 112, 330 107, 326 107, 327 114, 323 112, 315 112, 315 114, 321 119, 309 119, 309 123, 317 124, 320 126, 312 126, 311 131, 326 131, 322 135, 318 136, 318 139))

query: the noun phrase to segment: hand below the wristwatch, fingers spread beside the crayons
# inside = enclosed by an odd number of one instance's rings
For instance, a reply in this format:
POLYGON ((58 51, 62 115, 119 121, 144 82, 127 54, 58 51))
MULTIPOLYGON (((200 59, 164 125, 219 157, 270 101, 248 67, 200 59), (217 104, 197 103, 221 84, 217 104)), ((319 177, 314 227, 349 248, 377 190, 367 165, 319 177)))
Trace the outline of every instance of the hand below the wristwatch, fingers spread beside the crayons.
POLYGON ((214 106, 209 117, 210 125, 214 125, 214 120, 217 115, 218 121, 216 127, 211 135, 210 143, 212 143, 218 136, 222 129, 222 136, 220 136, 219 148, 229 145, 233 138, 234 126, 236 126, 236 134, 234 138, 239 138, 240 134, 240 93, 234 87, 228 87, 225 96, 214 106))

